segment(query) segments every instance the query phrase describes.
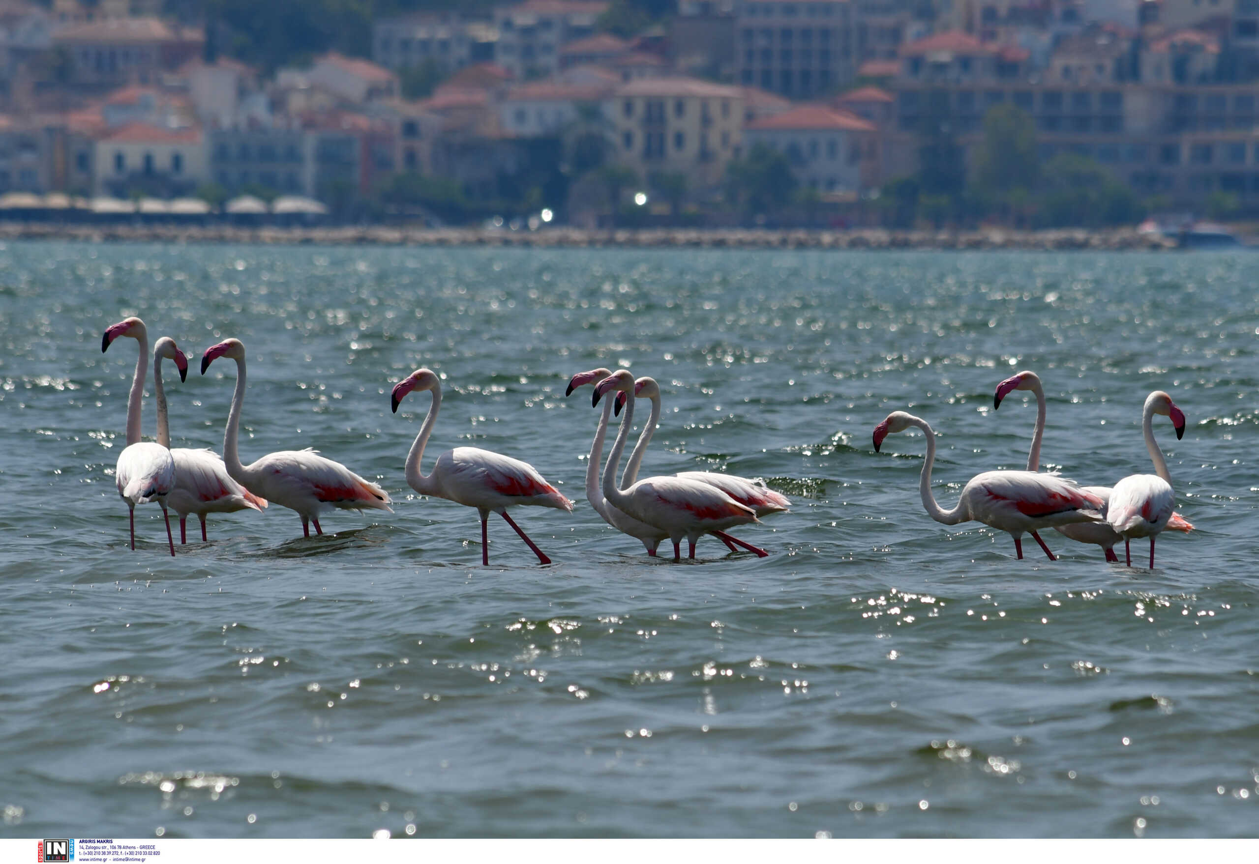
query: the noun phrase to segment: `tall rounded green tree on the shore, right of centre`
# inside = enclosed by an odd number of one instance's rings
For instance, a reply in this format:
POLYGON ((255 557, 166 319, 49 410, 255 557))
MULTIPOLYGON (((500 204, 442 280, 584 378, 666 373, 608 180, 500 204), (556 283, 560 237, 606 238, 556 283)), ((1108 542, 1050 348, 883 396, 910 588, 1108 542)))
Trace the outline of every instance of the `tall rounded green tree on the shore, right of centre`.
POLYGON ((990 108, 983 117, 983 140, 972 175, 978 197, 1002 218, 1017 220, 1039 176, 1040 155, 1032 117, 1010 104, 990 108))

